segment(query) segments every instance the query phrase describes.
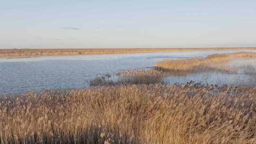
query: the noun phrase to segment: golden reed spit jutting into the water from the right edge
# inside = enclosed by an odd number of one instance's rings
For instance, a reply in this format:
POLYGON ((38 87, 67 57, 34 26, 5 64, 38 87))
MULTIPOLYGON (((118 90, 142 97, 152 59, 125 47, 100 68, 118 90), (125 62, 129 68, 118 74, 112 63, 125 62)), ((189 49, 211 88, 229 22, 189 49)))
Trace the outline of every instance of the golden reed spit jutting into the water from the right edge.
POLYGON ((233 53, 233 54, 212 54, 206 58, 191 58, 183 60, 164 60, 156 63, 155 67, 160 70, 176 72, 193 72, 200 69, 219 69, 230 71, 225 63, 238 58, 256 58, 256 53, 233 53))

